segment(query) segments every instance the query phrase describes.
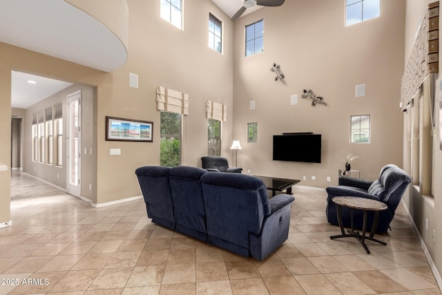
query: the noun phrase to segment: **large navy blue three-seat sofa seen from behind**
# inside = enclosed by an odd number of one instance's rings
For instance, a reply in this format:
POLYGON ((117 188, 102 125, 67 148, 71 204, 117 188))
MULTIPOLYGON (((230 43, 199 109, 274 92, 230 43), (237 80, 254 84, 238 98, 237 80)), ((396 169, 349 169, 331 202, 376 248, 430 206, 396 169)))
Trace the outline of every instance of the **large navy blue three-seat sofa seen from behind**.
POLYGON ((260 178, 191 166, 143 166, 135 174, 157 225, 258 260, 287 240, 294 197, 269 200, 260 178))

